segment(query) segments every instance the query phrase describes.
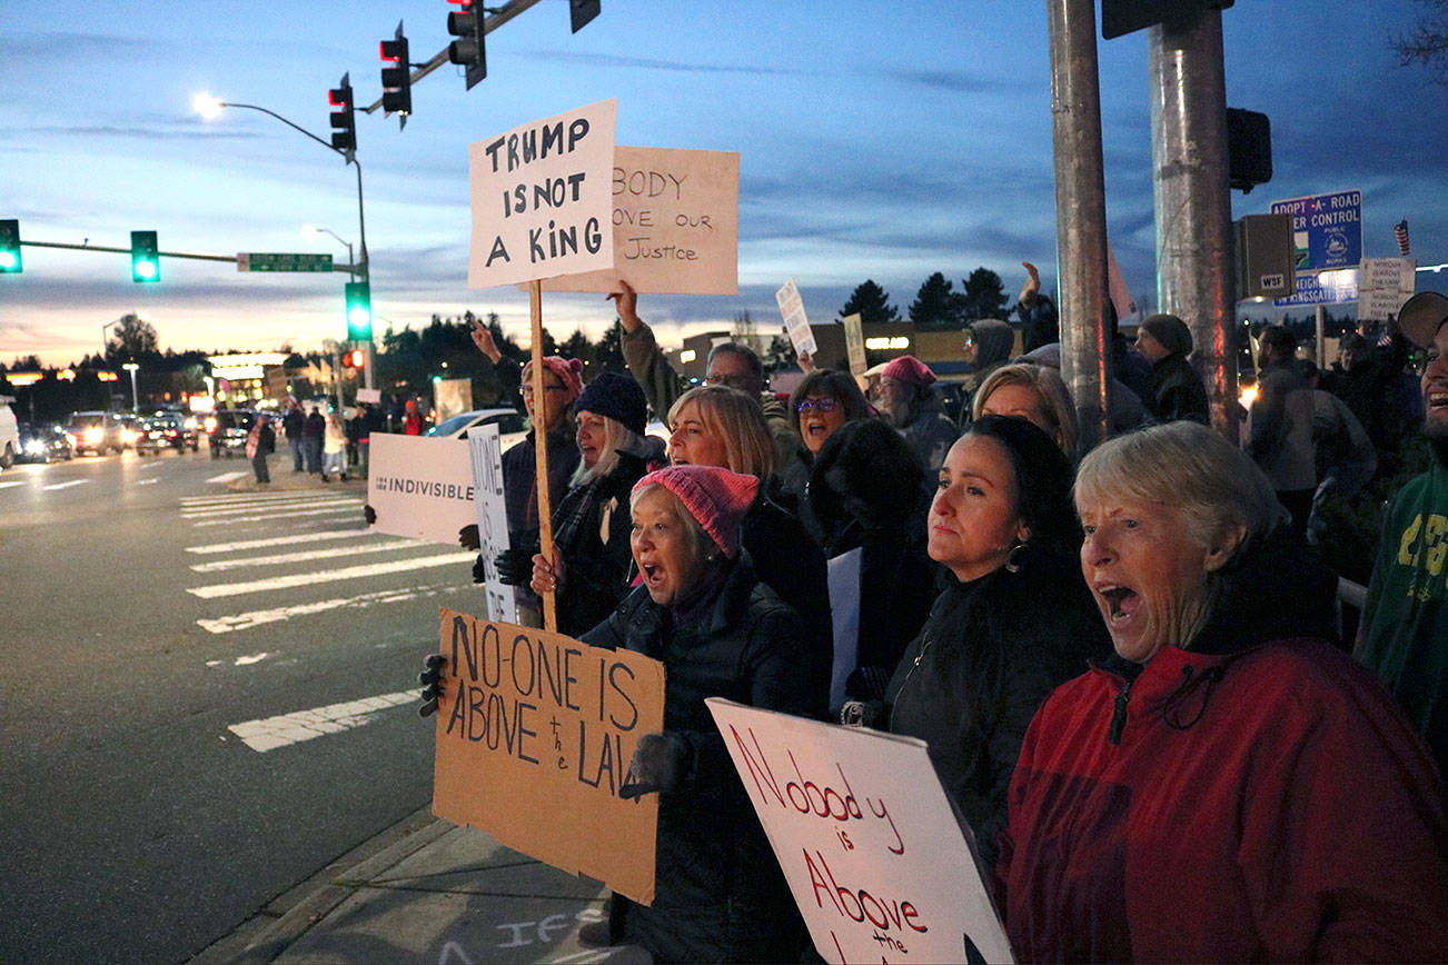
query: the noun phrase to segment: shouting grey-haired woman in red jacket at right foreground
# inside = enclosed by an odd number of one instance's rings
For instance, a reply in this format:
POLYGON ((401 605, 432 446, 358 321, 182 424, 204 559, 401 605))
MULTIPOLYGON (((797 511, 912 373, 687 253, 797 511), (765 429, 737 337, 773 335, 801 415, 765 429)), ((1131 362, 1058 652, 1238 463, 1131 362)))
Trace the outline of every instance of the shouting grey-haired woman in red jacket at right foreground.
POLYGON ((1169 422, 1096 447, 1074 495, 1115 654, 1021 748, 998 871, 1016 958, 1445 961, 1432 758, 1334 647, 1337 577, 1253 459, 1169 422))

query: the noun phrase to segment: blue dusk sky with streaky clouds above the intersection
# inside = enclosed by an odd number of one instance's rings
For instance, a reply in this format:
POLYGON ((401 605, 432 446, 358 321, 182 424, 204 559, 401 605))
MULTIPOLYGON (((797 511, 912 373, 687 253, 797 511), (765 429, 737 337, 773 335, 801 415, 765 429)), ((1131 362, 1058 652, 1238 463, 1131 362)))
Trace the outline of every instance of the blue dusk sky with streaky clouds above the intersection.
MULTIPOLYGON (((423 62, 452 39, 450 9, 0 0, 0 218, 19 218, 33 242, 127 247, 132 230, 153 229, 164 252, 345 262, 342 245, 301 229, 356 245, 353 169, 258 111, 204 120, 193 98, 256 104, 326 139, 327 88, 346 71, 358 103, 374 103, 378 41, 401 19, 423 62)), ((1222 13, 1228 104, 1273 126, 1273 181, 1234 191, 1234 218, 1361 190, 1364 255, 1396 255, 1393 224, 1407 218, 1419 263, 1448 260, 1448 87, 1392 49, 1429 12, 1419 0, 1238 0, 1222 13)), ((1145 32, 1096 36, 1108 230, 1151 308, 1145 32)), ((526 294, 468 288, 468 145, 605 98, 618 100, 618 143, 741 155, 740 294, 641 298, 666 344, 744 310, 773 330, 789 278, 815 323, 866 278, 902 315, 937 271, 959 289, 986 266, 1014 295, 1030 260, 1056 288, 1045 3, 602 0, 571 35, 568 1, 543 0, 488 36, 488 78, 472 91, 446 65, 413 88, 405 130, 381 110, 358 114, 378 334, 472 310, 497 311, 527 341, 526 294)), ((343 273, 162 259, 162 281, 139 285, 126 255, 23 256, 23 273, 0 276, 6 363, 78 360, 127 313, 162 347, 306 350, 345 337, 343 273)), ((559 339, 579 327, 597 337, 614 318, 599 295, 550 292, 543 311, 559 339)))

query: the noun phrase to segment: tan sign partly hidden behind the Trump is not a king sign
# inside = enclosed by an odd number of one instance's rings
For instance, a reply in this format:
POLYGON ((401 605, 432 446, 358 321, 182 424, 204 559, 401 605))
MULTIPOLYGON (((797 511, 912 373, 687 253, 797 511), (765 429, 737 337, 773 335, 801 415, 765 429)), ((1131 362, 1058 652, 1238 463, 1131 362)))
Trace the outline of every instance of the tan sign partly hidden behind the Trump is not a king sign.
POLYGON ((738 152, 614 148, 614 266, 549 291, 738 294, 738 152))

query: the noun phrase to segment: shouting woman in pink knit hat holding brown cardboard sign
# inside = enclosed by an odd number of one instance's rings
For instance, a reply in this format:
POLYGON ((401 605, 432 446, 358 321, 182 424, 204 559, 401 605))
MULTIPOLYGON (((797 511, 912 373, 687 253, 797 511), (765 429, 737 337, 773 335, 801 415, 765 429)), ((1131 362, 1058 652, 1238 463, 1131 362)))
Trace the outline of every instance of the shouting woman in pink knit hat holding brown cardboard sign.
POLYGON ((808 938, 779 862, 705 706, 723 696, 822 716, 828 654, 740 554, 759 479, 670 466, 631 493, 641 586, 582 637, 665 666, 662 734, 640 738, 623 797, 657 793, 653 904, 614 896, 623 942, 657 962, 798 962, 808 938))

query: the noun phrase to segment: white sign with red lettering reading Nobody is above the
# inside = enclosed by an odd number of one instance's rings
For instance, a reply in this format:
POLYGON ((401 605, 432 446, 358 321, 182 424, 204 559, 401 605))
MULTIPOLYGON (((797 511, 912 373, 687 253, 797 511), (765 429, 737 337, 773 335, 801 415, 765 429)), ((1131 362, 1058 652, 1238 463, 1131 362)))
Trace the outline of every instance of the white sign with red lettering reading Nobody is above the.
POLYGON ((1009 962, 925 742, 707 700, 827 962, 1009 962))

